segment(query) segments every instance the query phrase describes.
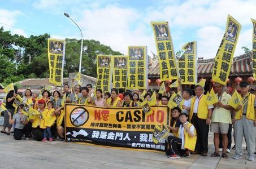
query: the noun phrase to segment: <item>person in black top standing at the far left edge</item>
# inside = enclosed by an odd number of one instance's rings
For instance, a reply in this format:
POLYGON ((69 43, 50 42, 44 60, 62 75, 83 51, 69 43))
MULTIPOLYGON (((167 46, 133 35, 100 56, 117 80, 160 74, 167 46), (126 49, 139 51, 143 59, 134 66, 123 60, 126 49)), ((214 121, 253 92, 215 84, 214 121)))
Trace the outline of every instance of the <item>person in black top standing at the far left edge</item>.
POLYGON ((3 128, 1 130, 1 133, 6 134, 6 135, 10 135, 11 132, 11 127, 12 124, 9 123, 9 115, 8 112, 11 113, 11 118, 14 115, 14 111, 15 108, 12 105, 14 103, 14 100, 17 96, 17 92, 18 92, 18 88, 16 86, 14 86, 14 90, 11 90, 8 92, 7 96, 6 96, 6 109, 5 110, 5 118, 3 119, 3 128), (6 132, 6 128, 7 128, 7 132, 6 132))

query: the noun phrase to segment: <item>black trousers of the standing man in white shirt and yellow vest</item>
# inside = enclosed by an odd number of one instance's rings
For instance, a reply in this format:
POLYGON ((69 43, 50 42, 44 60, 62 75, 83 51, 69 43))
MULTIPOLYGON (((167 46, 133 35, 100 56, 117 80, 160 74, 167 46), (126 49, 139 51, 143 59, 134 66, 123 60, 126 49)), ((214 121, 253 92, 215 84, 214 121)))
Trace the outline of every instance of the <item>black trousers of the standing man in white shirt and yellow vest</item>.
POLYGON ((193 113, 191 123, 197 130, 197 144, 195 152, 207 153, 208 152, 208 133, 209 125, 206 125, 206 119, 200 119, 196 113, 193 113))

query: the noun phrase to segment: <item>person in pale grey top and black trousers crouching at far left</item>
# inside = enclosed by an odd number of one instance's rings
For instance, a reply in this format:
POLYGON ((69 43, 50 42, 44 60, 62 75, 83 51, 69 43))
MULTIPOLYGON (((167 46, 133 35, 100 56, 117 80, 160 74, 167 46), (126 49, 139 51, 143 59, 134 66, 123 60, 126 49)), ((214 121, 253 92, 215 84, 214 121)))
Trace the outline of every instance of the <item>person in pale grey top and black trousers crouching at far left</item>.
POLYGON ((27 133, 25 131, 25 124, 28 123, 27 116, 22 113, 24 104, 20 104, 18 106, 18 113, 14 114, 14 117, 11 118, 11 113, 8 112, 9 115, 9 123, 15 124, 14 127, 14 139, 21 140, 23 134, 27 133))

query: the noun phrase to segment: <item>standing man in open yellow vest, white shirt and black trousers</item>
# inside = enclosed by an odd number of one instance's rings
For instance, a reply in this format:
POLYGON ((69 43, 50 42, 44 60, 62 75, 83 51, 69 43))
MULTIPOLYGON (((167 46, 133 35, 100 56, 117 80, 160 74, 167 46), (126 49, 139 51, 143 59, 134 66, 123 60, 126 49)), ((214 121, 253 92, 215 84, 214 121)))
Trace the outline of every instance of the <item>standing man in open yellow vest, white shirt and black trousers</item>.
POLYGON ((214 107, 207 105, 207 96, 203 95, 202 86, 196 85, 194 92, 196 96, 191 99, 189 120, 197 130, 197 144, 192 154, 207 156, 209 124, 211 122, 212 108, 214 107))

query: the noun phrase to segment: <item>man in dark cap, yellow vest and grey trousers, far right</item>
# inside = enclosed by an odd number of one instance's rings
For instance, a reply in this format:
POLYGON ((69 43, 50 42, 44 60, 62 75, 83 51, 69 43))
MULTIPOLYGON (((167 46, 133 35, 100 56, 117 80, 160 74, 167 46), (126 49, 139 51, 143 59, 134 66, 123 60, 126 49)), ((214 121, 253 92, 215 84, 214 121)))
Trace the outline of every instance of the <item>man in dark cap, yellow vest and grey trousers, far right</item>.
POLYGON ((236 154, 233 159, 242 158, 242 137, 245 136, 247 155, 249 161, 254 161, 254 124, 255 120, 255 95, 249 93, 249 83, 241 82, 240 90, 242 95, 242 104, 235 109, 235 143, 236 154))

